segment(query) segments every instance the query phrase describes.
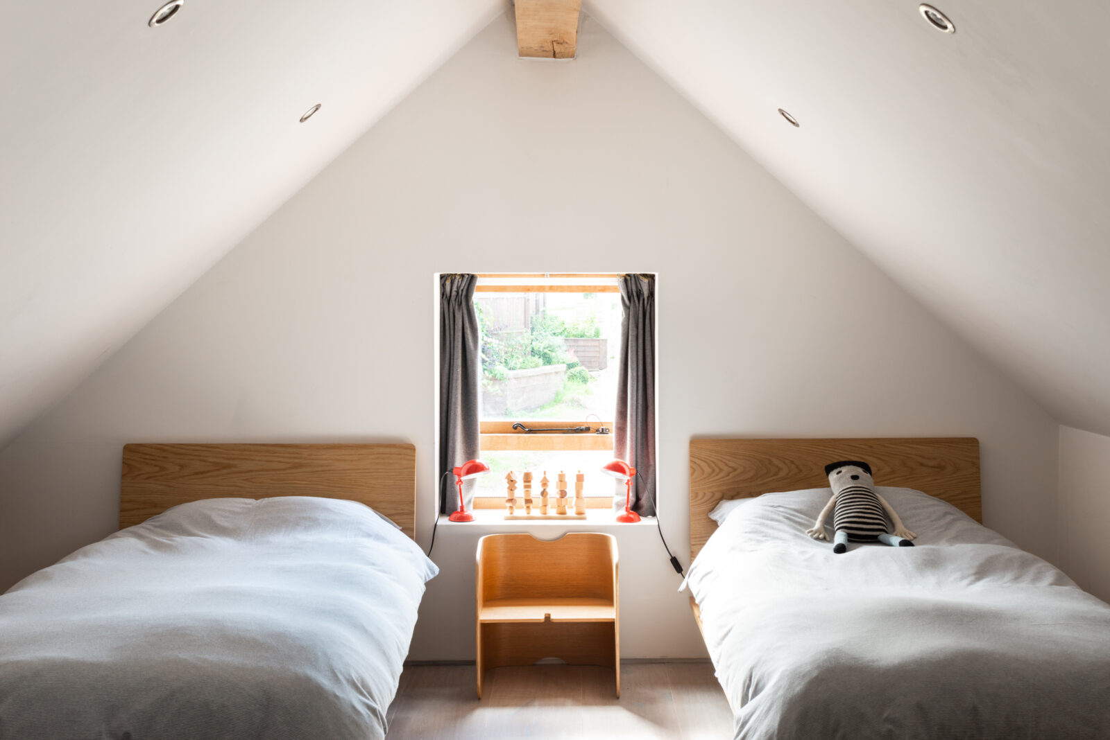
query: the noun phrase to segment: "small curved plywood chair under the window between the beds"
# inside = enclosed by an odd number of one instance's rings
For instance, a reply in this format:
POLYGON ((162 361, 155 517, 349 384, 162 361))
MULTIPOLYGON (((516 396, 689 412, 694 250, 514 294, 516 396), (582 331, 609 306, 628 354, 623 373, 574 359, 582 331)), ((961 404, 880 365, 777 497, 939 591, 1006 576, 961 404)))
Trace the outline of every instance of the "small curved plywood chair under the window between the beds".
POLYGON ((475 572, 477 681, 498 666, 562 658, 606 666, 620 696, 617 542, 582 532, 554 542, 529 534, 478 539, 475 572))

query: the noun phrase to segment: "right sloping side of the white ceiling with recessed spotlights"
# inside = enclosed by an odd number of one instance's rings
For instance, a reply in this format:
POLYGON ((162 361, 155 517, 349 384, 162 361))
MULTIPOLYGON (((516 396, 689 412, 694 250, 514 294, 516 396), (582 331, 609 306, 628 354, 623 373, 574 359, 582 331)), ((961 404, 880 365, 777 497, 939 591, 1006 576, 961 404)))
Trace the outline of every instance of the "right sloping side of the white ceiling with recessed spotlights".
POLYGON ((587 8, 1060 421, 1110 433, 1110 3, 932 4, 956 33, 917 0, 587 8))

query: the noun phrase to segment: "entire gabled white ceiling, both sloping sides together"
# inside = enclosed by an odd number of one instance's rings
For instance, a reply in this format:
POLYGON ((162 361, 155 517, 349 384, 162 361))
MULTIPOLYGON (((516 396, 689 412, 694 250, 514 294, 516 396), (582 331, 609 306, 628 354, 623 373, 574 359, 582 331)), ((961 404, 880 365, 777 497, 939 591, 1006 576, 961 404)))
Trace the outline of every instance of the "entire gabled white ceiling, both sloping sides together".
MULTIPOLYGON (((0 9, 0 448, 506 7, 186 0, 148 28, 158 4, 0 9)), ((1110 3, 938 0, 951 35, 917 4, 584 8, 1061 421, 1110 433, 1110 3)))

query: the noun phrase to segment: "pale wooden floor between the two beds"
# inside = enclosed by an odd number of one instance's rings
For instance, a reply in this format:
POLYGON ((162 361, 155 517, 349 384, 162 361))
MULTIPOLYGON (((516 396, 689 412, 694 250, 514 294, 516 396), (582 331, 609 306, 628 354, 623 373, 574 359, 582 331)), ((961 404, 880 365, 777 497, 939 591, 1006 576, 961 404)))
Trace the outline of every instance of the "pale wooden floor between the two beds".
POLYGON ((389 710, 387 740, 440 738, 676 738, 727 740, 733 715, 708 662, 496 668, 485 699, 474 666, 406 666, 389 710))

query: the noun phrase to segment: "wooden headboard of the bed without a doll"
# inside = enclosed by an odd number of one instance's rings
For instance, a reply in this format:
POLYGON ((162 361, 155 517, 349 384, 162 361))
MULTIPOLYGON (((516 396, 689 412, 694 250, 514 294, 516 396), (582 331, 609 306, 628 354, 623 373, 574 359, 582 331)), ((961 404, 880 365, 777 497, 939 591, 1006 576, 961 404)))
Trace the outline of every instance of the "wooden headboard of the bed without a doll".
POLYGON ((415 533, 412 444, 125 444, 120 528, 201 499, 357 501, 415 533))

